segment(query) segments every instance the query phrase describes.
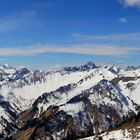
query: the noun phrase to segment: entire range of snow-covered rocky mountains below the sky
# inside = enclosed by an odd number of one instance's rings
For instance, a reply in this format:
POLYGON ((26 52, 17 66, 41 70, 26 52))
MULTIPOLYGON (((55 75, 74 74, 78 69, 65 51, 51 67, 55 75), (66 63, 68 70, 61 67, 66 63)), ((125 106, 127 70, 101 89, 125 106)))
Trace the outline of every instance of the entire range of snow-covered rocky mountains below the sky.
POLYGON ((0 65, 0 139, 140 139, 140 67, 0 65))

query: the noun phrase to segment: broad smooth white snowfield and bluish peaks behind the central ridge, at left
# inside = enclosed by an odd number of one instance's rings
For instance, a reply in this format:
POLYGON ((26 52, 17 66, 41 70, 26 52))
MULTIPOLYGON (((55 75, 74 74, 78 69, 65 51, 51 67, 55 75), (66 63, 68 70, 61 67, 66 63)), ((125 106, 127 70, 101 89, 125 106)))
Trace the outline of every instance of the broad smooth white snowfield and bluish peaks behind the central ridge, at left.
POLYGON ((10 102, 17 98, 21 106, 20 109, 27 109, 31 100, 35 100, 44 92, 50 92, 60 86, 80 80, 94 69, 95 65, 87 63, 76 68, 76 70, 74 67, 74 70, 64 68, 58 71, 43 72, 32 71, 27 68, 15 69, 10 66, 1 66, 3 73, 0 80, 0 95, 10 102), (87 68, 87 70, 84 68, 87 68), (23 104, 26 104, 27 107, 23 104))

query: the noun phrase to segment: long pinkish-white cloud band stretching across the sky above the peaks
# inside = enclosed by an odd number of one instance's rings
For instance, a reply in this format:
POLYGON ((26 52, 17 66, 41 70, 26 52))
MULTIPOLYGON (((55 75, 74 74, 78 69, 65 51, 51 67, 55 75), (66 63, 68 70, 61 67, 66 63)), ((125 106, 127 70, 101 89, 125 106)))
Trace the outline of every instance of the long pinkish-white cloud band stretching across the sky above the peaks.
POLYGON ((79 44, 71 46, 51 46, 40 45, 31 47, 18 48, 0 48, 0 56, 27 56, 37 55, 47 52, 52 53, 73 53, 88 55, 105 55, 105 56, 127 56, 128 54, 139 53, 140 48, 121 47, 102 44, 79 44))

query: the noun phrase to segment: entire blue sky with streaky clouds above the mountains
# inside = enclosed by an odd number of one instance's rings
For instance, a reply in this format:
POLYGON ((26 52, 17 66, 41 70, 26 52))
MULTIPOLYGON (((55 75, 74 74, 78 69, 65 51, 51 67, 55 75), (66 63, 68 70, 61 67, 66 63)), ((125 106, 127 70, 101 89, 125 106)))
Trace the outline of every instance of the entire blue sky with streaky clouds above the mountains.
POLYGON ((1 0, 0 63, 139 65, 140 0, 1 0))

